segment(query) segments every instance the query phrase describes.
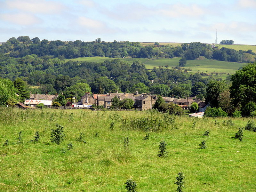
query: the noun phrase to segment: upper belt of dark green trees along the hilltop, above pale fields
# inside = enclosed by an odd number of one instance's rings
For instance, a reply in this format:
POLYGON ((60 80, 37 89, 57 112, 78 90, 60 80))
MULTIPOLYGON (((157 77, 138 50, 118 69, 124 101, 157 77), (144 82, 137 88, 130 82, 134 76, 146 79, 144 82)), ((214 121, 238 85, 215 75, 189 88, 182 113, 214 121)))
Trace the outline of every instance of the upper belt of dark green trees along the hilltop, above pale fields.
POLYGON ((252 50, 236 51, 225 47, 218 49, 217 47, 212 48, 210 44, 200 42, 184 43, 177 47, 158 45, 156 43, 155 45, 143 46, 139 42, 105 42, 101 41, 100 38, 92 42, 82 42, 80 40, 49 42, 47 39, 40 41, 38 37, 30 39, 28 36, 19 36, 17 39, 15 37, 10 38, 0 46, 0 53, 9 53, 11 57, 15 58, 36 54, 38 57, 51 56, 61 60, 64 58, 72 59, 92 56, 111 58, 181 57, 183 62, 181 62, 180 66, 184 66, 186 60, 195 60, 199 56, 204 56, 207 59, 233 62, 251 62, 255 58, 255 53, 252 50))

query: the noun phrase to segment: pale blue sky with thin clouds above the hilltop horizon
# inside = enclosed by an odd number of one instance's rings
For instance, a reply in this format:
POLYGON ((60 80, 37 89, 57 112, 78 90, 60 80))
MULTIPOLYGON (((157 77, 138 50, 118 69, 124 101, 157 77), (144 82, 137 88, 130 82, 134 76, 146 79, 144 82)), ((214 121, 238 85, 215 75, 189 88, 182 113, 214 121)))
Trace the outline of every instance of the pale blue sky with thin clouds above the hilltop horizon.
POLYGON ((256 0, 0 0, 0 41, 130 41, 256 45, 256 0))

